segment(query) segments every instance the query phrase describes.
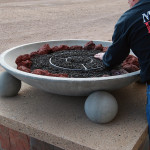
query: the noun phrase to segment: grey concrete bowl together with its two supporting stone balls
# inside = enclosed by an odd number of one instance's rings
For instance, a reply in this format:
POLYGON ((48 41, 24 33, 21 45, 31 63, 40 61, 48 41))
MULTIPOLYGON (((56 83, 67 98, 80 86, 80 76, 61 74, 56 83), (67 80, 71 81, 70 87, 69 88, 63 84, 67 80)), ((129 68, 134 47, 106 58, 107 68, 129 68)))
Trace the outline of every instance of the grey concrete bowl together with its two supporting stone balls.
MULTIPOLYGON (((15 96, 21 88, 21 81, 46 92, 66 96, 88 96, 84 110, 87 117, 95 123, 108 123, 118 112, 118 104, 110 93, 125 87, 139 79, 140 71, 109 77, 64 78, 36 75, 17 69, 18 56, 37 51, 44 44, 51 47, 59 45, 84 46, 89 40, 61 40, 30 43, 11 48, 0 55, 0 64, 6 70, 0 74, 0 96, 15 96)), ((111 45, 107 41, 93 41, 104 47, 111 45)))

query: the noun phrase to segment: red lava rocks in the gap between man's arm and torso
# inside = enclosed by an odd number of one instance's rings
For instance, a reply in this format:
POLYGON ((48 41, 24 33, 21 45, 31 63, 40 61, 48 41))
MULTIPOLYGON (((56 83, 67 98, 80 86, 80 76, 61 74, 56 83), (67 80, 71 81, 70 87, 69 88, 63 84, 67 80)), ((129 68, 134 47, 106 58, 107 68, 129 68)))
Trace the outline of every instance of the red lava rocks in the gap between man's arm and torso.
POLYGON ((139 68, 138 58, 133 55, 128 55, 128 57, 123 61, 122 66, 126 64, 133 64, 139 68))

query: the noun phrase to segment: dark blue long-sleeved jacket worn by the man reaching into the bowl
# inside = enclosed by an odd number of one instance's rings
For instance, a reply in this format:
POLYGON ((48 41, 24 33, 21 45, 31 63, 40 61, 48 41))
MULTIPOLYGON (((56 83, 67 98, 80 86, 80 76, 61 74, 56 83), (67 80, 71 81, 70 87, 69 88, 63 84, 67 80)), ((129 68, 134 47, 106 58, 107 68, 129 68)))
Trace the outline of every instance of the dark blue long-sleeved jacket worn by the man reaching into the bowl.
POLYGON ((150 0, 140 0, 120 17, 112 41, 103 57, 104 64, 119 65, 131 49, 139 60, 141 80, 150 80, 150 0))

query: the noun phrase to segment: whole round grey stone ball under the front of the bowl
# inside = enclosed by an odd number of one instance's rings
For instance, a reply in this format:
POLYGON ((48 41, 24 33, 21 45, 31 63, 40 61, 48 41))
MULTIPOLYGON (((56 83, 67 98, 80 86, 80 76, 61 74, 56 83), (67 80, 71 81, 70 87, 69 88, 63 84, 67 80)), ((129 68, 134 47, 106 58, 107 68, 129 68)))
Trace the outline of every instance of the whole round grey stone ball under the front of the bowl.
POLYGON ((115 118, 118 104, 115 97, 108 92, 97 91, 87 97, 84 109, 91 121, 108 123, 115 118))

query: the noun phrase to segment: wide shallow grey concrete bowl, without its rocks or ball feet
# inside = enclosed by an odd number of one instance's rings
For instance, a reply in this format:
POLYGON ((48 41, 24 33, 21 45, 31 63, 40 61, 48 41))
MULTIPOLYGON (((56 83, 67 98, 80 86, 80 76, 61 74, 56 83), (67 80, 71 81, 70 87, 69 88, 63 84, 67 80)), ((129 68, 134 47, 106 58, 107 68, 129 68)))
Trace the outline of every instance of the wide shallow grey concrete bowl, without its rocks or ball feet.
MULTIPOLYGON (((59 40, 44 41, 38 43, 30 43, 20 45, 6 50, 0 55, 0 64, 8 73, 27 84, 37 87, 41 90, 68 96, 87 96, 95 91, 112 91, 125 87, 139 79, 140 71, 110 76, 110 77, 94 77, 94 78, 63 78, 42 76, 26 73, 16 69, 15 60, 19 55, 29 54, 38 50, 42 45, 49 44, 59 46, 66 44, 68 46, 81 45, 84 46, 89 40, 59 40)), ((108 41, 93 41, 95 44, 109 46, 108 41)))

